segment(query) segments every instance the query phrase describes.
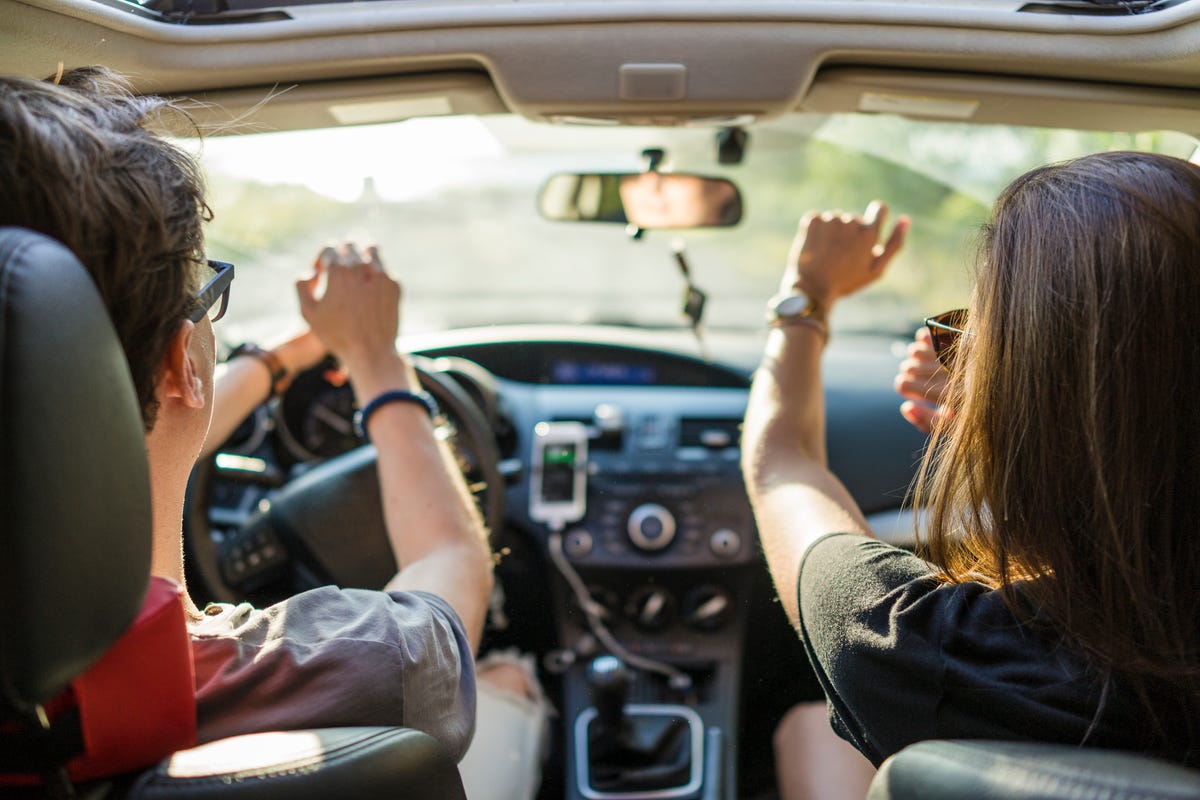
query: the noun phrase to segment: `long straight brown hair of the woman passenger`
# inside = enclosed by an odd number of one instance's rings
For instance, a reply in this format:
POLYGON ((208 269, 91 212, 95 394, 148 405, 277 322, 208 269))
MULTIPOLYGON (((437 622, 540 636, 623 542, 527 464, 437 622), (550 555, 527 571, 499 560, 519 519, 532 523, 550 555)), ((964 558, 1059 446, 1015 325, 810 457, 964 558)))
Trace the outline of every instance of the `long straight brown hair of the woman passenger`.
POLYGON ((983 581, 1144 703, 1200 709, 1200 168, 1109 152, 1014 181, 917 494, 983 581))

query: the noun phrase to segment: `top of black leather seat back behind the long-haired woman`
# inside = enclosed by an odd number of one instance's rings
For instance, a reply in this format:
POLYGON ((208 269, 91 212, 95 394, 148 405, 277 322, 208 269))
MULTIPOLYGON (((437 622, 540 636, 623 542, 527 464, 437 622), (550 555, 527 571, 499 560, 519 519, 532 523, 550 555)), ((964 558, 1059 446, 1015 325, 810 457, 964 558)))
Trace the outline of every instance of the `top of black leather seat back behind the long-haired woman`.
POLYGON ((923 741, 880 768, 868 800, 1196 800, 1200 772, 1135 753, 923 741))

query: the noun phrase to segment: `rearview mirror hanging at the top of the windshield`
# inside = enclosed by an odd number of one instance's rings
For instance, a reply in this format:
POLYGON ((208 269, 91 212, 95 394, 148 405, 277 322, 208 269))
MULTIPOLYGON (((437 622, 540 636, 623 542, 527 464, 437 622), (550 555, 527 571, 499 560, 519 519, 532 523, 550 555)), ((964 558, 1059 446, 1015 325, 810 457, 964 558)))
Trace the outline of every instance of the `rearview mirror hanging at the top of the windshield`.
POLYGON ((742 192, 724 178, 686 173, 559 173, 538 197, 547 219, 637 228, 725 228, 742 219, 742 192))

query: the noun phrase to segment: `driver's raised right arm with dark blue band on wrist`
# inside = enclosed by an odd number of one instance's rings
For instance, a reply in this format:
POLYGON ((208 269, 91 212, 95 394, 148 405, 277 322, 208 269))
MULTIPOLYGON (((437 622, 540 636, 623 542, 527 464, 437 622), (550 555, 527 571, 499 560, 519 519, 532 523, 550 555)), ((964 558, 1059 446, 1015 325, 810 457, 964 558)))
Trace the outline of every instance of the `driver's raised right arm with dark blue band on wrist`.
MULTIPOLYGON (((378 253, 326 248, 316 275, 300 281, 300 309, 349 372, 362 408, 383 392, 416 391, 416 375, 396 350, 400 284, 378 253), (322 275, 325 291, 318 296, 322 275)), ((446 445, 424 408, 388 403, 368 420, 379 453, 384 521, 400 572, 388 589, 430 591, 462 618, 472 646, 482 636, 492 591, 487 531, 446 445)))

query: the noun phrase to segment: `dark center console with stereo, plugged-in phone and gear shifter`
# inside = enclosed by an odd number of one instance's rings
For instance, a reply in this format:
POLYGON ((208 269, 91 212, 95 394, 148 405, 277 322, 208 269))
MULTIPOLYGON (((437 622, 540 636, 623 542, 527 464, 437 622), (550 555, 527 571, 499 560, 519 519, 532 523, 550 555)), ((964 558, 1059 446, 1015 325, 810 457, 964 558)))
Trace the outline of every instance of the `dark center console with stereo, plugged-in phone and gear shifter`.
MULTIPOLYGON (((713 390, 709 390, 710 392, 713 390)), ((596 404, 535 423, 529 523, 562 579, 570 798, 733 798, 746 597, 761 569, 740 479, 744 392, 596 404), (619 673, 619 679, 613 675, 619 673)))

